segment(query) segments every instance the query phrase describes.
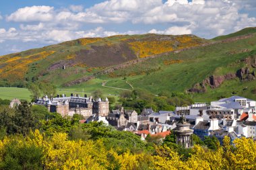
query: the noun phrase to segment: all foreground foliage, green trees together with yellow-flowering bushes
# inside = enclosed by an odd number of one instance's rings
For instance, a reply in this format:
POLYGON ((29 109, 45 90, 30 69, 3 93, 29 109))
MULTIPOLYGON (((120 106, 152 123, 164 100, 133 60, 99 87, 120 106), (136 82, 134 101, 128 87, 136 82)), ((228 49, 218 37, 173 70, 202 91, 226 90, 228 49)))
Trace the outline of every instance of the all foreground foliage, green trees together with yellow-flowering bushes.
POLYGON ((172 134, 163 143, 150 136, 143 142, 102 122, 79 124, 79 115, 63 118, 26 102, 0 107, 0 116, 0 169, 256 169, 251 138, 230 144, 225 137, 220 146, 193 136, 195 146, 186 149, 172 134))

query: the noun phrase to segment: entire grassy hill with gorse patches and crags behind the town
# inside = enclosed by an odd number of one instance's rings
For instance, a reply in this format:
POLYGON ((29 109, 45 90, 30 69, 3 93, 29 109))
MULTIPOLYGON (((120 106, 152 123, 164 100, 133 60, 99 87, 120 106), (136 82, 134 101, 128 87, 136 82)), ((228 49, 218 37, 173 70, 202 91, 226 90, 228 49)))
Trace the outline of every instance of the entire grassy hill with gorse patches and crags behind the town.
POLYGON ((256 99, 255 58, 255 28, 213 40, 156 34, 82 38, 0 56, 0 80, 47 81, 67 93, 196 89, 200 93, 189 92, 195 101, 230 95, 256 99))

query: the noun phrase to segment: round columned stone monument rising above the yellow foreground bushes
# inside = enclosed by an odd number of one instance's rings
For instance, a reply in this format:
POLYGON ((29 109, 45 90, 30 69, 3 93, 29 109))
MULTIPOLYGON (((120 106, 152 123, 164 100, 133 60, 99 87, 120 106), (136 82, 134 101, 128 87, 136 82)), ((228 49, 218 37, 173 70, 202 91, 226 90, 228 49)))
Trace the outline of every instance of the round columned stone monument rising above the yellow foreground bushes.
POLYGON ((192 134, 194 130, 189 128, 190 124, 185 121, 185 117, 183 115, 176 126, 176 130, 173 130, 176 144, 180 144, 185 148, 193 146, 192 134))

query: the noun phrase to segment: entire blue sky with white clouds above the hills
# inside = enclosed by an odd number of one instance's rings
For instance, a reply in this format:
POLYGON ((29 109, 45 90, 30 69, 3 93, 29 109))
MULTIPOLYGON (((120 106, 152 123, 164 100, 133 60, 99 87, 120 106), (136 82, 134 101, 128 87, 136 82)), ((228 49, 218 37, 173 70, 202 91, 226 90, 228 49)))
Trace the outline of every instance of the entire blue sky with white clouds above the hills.
POLYGON ((256 26, 255 0, 0 1, 0 55, 86 37, 194 34, 256 26))

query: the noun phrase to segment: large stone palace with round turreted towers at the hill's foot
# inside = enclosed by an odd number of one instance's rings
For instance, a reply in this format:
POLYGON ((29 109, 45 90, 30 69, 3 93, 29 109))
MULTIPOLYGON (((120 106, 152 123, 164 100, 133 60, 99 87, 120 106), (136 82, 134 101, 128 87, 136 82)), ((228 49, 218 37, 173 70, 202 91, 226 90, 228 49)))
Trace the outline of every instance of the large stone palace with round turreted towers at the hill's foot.
POLYGON ((92 97, 80 97, 79 95, 66 97, 65 94, 57 95, 57 97, 44 96, 42 99, 36 100, 36 105, 44 105, 49 112, 57 112, 61 116, 73 116, 73 114, 81 114, 84 117, 107 116, 109 113, 109 101, 98 99, 94 101, 92 97))

